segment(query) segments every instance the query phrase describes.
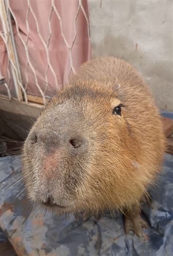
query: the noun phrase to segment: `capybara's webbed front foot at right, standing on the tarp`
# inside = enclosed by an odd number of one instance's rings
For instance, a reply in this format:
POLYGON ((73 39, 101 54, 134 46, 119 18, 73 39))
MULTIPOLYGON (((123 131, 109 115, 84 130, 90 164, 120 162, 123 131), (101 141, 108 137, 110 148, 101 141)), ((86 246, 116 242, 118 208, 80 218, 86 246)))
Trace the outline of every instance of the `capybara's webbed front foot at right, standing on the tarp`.
POLYGON ((141 218, 140 213, 141 211, 137 206, 125 212, 124 231, 126 234, 133 230, 138 237, 142 237, 142 228, 147 229, 147 223, 141 218))

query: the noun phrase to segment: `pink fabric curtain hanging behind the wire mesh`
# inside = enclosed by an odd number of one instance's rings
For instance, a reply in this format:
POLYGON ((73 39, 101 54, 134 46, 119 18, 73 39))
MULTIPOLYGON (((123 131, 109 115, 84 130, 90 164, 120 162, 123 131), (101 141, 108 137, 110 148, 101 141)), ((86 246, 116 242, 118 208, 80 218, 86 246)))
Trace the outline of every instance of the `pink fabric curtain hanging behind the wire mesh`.
MULTIPOLYGON (((91 52, 87 25, 87 0, 81 1, 82 8, 81 6, 79 8, 79 0, 55 0, 54 3, 55 8, 53 8, 51 0, 30 0, 29 8, 27 0, 10 1, 12 14, 18 23, 20 36, 27 45, 30 63, 35 70, 39 86, 43 91, 46 89, 46 83, 44 82, 46 81, 46 73, 47 82, 54 88, 60 88, 68 81, 69 76, 73 75, 72 68, 76 71, 83 62, 90 59, 91 52), (55 10, 57 10, 59 18, 62 21, 62 30, 55 10), (56 86, 56 79, 51 68, 48 68, 49 63, 46 49, 39 37, 34 15, 38 23, 39 33, 45 41, 45 44, 47 45, 50 40, 47 49, 50 57, 50 65, 56 74, 58 86, 56 86), (27 30, 27 21, 29 31, 27 30), (72 48, 71 56, 64 38, 69 47, 72 48)), ((28 64, 25 47, 17 33, 15 21, 13 21, 13 29, 19 57, 20 72, 22 74, 22 83, 28 94, 41 96, 35 83, 35 75, 30 64, 28 64)), ((0 38, 0 56, 0 70, 8 82, 8 56, 2 38, 0 38)), ((14 94, 12 80, 10 82, 10 88, 14 94)), ((0 88, 0 93, 3 93, 2 88, 0 88)))

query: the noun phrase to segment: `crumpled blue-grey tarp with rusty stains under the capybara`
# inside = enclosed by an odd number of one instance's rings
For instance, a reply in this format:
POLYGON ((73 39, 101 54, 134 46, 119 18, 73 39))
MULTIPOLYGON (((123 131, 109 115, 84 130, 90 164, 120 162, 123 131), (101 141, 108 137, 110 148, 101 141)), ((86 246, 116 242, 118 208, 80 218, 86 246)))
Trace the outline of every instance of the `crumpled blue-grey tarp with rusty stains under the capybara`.
POLYGON ((124 234, 122 216, 116 213, 77 224, 73 215, 59 217, 38 208, 31 211, 24 192, 15 199, 23 190, 22 183, 11 186, 20 178, 20 172, 17 173, 20 160, 19 155, 0 159, 0 227, 18 255, 172 255, 173 155, 165 155, 158 186, 150 190, 152 206, 142 206, 149 224, 149 228, 143 230, 143 238, 132 231, 124 234))

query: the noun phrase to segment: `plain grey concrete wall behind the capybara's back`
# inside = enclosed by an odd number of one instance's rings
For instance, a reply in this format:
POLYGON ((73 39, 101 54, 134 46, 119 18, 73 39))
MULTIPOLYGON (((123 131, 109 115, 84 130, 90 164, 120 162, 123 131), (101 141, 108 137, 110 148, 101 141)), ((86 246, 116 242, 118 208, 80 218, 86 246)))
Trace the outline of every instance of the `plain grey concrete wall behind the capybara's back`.
POLYGON ((158 106, 173 111, 172 0, 88 0, 92 57, 133 64, 158 106))

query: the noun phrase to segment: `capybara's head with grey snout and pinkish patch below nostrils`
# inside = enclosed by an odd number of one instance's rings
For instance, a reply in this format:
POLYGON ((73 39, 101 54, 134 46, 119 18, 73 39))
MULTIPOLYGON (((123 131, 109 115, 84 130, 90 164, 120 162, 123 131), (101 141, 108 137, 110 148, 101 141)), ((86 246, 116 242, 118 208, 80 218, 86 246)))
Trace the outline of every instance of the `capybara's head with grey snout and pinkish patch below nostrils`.
POLYGON ((64 211, 108 206, 107 196, 118 193, 129 168, 124 108, 114 90, 98 82, 78 80, 59 90, 24 145, 29 197, 64 211))

